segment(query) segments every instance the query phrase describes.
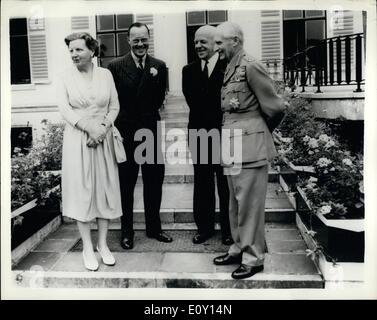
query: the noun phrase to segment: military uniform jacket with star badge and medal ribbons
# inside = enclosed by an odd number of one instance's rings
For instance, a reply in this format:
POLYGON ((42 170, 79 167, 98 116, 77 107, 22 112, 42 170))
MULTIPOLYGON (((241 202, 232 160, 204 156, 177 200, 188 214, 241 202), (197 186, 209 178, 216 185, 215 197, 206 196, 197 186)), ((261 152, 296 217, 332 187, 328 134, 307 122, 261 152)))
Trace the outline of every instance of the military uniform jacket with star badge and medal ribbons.
MULTIPOLYGON (((276 155, 271 132, 284 115, 284 101, 263 66, 244 50, 225 71, 221 108, 223 129, 242 129, 243 167, 264 165, 276 155)), ((230 130, 231 145, 234 138, 230 130)))

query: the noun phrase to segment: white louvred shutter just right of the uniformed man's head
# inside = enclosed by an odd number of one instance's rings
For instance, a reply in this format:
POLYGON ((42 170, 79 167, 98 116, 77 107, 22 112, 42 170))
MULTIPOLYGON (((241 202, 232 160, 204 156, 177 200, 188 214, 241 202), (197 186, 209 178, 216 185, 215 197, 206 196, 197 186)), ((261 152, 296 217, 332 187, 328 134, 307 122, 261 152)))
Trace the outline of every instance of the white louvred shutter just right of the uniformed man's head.
POLYGON ((261 11, 261 60, 274 78, 281 74, 281 11, 261 11))

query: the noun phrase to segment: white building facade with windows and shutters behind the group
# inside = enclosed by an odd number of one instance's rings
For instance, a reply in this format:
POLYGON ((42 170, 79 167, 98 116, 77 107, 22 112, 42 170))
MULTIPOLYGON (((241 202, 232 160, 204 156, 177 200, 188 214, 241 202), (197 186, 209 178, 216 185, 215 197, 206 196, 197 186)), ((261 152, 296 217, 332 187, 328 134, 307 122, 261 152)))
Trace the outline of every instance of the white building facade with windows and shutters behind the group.
MULTIPOLYGON (((150 54, 164 60, 168 67, 168 94, 179 96, 182 95, 182 68, 195 58, 193 37, 196 29, 204 24, 216 26, 227 20, 242 27, 245 50, 262 60, 271 75, 280 80, 284 78, 283 59, 315 46, 323 39, 364 32, 361 11, 201 10, 166 14, 114 12, 35 19, 14 17, 9 24, 12 131, 29 128, 34 136, 38 134, 41 120, 61 121, 55 80, 71 64, 64 43, 68 34, 86 31, 96 36, 101 48, 96 63, 106 67, 109 61, 130 50, 127 30, 131 23, 146 23, 151 31, 150 54)), ((352 43, 351 49, 348 59, 354 61, 352 43)), ((347 49, 341 47, 339 50, 343 63, 347 60, 347 49)), ((328 50, 325 55, 329 55, 328 50)), ((307 59, 309 64, 313 58, 307 59)), ((350 72, 354 72, 353 67, 350 72)))

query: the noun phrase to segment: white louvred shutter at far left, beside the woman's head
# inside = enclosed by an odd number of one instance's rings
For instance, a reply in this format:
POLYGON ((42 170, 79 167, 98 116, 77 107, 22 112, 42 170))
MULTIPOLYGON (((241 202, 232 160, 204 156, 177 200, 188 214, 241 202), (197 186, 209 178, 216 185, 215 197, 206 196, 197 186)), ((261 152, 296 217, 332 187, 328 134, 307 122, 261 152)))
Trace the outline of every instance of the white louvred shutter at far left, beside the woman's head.
POLYGON ((28 19, 30 73, 32 83, 47 83, 48 60, 45 19, 28 19))

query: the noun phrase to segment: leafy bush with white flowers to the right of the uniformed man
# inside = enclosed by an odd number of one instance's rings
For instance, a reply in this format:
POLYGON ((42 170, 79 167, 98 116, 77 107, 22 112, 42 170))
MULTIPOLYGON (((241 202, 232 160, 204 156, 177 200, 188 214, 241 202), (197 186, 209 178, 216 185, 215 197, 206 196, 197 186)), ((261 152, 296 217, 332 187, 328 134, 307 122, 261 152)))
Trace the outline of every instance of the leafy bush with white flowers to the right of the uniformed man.
POLYGON ((314 174, 299 175, 314 212, 333 218, 363 216, 363 156, 352 153, 328 123, 316 119, 308 101, 291 95, 275 141, 276 163, 288 160, 314 169, 314 174))

